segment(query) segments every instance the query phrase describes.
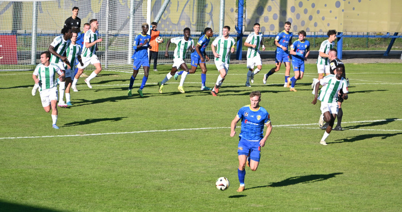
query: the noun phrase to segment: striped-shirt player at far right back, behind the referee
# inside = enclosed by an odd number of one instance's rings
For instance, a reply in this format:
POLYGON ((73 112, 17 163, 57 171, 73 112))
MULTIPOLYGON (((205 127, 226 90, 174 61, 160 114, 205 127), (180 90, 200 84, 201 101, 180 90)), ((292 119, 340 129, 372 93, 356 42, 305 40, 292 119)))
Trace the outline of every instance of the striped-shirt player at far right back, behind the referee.
POLYGON ((336 39, 336 31, 334 29, 329 30, 326 35, 328 39, 324 40, 321 43, 320 50, 318 51, 320 54, 317 59, 317 70, 318 70, 318 79, 313 78, 313 83, 311 84, 311 88, 314 88, 315 84, 320 81, 324 77, 324 73, 326 75, 330 74, 329 70, 329 62, 328 53, 329 50, 334 48, 335 39, 336 39))

